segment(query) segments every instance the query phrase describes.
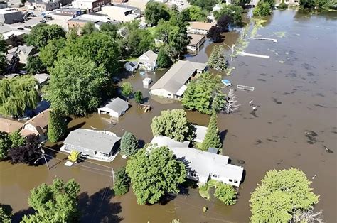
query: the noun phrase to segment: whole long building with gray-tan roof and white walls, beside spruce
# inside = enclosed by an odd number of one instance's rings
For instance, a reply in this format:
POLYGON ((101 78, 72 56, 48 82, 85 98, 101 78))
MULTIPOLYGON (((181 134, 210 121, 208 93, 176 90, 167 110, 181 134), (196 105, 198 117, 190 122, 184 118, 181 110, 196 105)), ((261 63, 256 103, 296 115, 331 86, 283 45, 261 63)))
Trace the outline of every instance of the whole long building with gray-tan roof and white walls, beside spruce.
POLYGON ((205 69, 205 63, 178 60, 161 79, 154 83, 150 88, 150 94, 169 99, 180 99, 187 88, 188 80, 197 73, 204 72, 205 69))

